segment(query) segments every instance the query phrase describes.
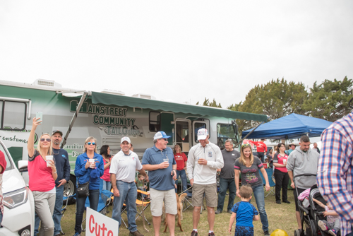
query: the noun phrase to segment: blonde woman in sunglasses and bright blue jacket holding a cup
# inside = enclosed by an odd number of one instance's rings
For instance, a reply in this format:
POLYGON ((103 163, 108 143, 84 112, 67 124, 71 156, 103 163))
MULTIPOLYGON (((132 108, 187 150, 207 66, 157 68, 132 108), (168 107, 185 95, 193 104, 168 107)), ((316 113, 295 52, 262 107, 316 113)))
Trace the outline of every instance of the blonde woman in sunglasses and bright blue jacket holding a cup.
MULTIPOLYGON (((97 211, 98 201, 100 199, 100 177, 104 173, 104 160, 102 155, 97 154, 97 140, 94 137, 86 138, 83 151, 85 153, 79 155, 76 159, 75 175, 78 177, 79 184, 90 182, 90 196, 88 196, 90 199, 90 208, 97 211)), ((76 196, 76 236, 81 233, 86 198, 85 196, 76 196)))

